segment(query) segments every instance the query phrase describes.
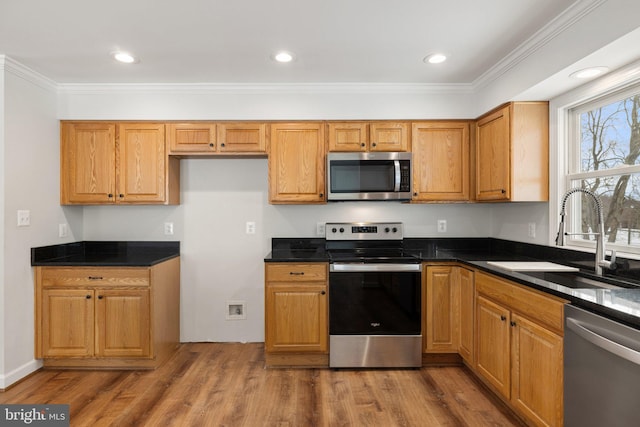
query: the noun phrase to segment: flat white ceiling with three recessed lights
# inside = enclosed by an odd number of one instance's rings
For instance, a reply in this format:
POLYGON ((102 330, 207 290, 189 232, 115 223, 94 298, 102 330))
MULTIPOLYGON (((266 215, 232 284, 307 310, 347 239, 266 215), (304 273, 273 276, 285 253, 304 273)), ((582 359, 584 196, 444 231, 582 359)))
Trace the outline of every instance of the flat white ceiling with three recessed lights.
POLYGON ((2 0, 0 54, 58 83, 473 84, 574 2, 2 0))

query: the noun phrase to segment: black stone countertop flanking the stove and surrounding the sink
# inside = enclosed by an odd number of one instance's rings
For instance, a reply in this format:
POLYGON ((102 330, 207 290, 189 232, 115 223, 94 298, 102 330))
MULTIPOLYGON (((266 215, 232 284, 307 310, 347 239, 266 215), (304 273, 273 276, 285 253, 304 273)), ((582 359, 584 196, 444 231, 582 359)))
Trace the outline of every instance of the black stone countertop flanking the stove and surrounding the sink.
MULTIPOLYGON (((324 239, 272 239, 265 262, 329 262, 324 239)), ((618 258, 618 268, 607 277, 637 288, 572 289, 492 266, 487 261, 550 261, 593 272, 594 254, 566 248, 533 245, 493 238, 405 238, 404 249, 423 262, 459 262, 539 291, 640 329, 640 261, 618 258)))

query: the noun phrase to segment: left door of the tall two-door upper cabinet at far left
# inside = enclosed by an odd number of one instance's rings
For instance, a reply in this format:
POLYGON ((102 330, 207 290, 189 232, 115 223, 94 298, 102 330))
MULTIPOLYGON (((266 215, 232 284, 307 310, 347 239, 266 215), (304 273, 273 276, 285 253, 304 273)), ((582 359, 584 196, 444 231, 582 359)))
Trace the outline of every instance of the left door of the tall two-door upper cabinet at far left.
POLYGON ((60 203, 113 203, 116 127, 113 123, 62 123, 60 203))

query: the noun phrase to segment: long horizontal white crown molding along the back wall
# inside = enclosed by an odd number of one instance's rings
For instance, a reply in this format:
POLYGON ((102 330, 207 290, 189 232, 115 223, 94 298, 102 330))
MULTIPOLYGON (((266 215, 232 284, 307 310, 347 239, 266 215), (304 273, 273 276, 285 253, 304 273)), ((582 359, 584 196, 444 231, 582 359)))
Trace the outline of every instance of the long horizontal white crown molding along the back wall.
POLYGON ((420 83, 104 83, 59 84, 61 94, 470 94, 470 84, 420 83))

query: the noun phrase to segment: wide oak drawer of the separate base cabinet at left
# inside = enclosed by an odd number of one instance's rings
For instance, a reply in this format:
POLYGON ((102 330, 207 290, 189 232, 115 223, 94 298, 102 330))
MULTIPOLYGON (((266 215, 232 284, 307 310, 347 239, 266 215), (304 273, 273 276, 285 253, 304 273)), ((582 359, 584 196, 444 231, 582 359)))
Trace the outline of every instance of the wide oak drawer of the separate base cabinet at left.
POLYGON ((43 286, 149 286, 148 268, 46 267, 43 286))

